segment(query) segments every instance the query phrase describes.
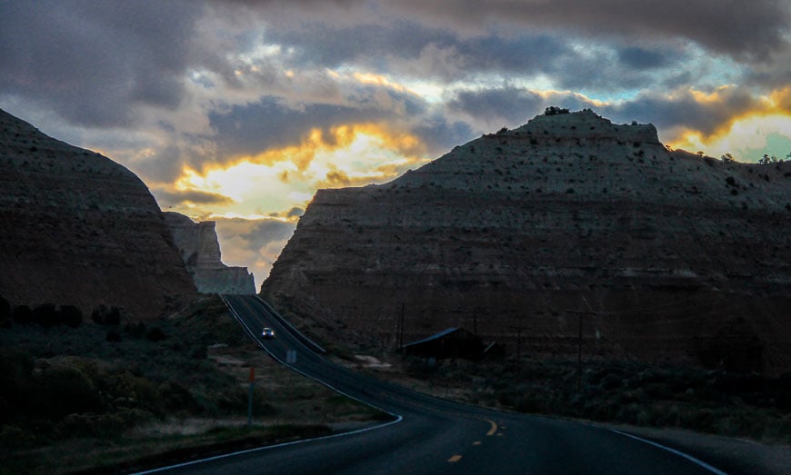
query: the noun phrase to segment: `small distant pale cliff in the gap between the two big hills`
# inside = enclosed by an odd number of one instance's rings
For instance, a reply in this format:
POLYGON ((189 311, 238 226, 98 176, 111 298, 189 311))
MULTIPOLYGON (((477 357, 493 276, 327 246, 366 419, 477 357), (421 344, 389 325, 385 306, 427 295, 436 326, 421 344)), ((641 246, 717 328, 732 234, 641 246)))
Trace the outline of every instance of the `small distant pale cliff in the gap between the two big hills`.
POLYGON ((214 221, 195 223, 184 214, 165 212, 165 222, 201 293, 255 293, 253 274, 246 267, 228 267, 220 259, 214 221))

